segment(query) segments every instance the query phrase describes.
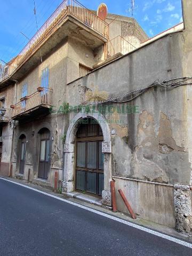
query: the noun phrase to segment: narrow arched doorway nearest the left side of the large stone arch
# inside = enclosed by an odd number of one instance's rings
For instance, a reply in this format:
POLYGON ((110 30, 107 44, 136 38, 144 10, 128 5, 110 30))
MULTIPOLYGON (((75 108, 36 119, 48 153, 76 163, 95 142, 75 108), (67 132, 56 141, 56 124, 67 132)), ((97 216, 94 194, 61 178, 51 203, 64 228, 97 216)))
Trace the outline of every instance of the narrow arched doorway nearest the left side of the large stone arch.
POLYGON ((38 178, 47 179, 50 170, 50 130, 42 128, 39 132, 38 178))

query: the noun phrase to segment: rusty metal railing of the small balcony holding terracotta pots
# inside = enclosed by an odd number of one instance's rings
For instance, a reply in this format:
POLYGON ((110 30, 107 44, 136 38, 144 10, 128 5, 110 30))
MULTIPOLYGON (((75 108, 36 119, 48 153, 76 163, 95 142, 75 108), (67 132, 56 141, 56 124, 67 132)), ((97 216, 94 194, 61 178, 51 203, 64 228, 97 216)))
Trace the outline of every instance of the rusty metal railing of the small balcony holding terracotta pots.
POLYGON ((35 107, 41 105, 52 105, 52 89, 43 88, 41 92, 35 92, 29 96, 24 97, 25 100, 21 100, 13 106, 12 117, 25 113, 35 107))

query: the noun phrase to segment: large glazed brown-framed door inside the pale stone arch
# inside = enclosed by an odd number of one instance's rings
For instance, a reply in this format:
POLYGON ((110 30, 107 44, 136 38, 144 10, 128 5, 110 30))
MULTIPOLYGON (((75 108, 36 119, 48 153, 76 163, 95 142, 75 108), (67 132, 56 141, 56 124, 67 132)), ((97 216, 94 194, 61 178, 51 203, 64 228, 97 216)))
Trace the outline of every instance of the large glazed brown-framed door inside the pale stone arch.
POLYGON ((102 130, 92 118, 81 119, 79 125, 75 143, 75 188, 101 196, 104 189, 102 130))

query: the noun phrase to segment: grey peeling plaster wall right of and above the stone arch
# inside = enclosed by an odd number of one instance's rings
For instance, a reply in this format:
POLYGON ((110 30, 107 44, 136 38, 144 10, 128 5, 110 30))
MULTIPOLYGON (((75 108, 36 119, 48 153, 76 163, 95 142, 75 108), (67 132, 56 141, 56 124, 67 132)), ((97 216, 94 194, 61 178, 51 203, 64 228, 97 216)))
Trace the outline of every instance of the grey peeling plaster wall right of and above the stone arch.
MULTIPOLYGON (((110 98, 147 87, 157 79, 182 77, 181 35, 166 35, 69 83, 69 105, 83 103, 87 92, 110 98)), ((173 185, 189 185, 190 180, 185 100, 184 87, 173 90, 155 87, 127 103, 138 106, 135 107, 137 113, 115 111, 110 114, 106 111, 104 114, 110 129, 116 131, 111 135, 112 175, 119 177, 115 178, 118 180, 116 187, 127 188, 124 192, 131 198, 135 213, 171 227, 175 225, 173 185), (137 185, 126 178, 137 180, 137 185), (148 200, 148 189, 151 189, 153 203, 143 205, 148 200)), ((121 106, 113 104, 116 109, 121 106)), ((70 113, 69 121, 74 116, 75 113, 70 113)), ((120 199, 117 204, 119 210, 126 212, 120 199)))

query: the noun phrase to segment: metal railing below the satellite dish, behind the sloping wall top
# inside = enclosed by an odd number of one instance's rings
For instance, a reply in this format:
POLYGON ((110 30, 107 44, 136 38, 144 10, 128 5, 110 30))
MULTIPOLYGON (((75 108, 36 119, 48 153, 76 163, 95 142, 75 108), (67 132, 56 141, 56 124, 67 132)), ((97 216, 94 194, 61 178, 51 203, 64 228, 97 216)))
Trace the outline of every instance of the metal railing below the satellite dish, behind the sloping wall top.
POLYGON ((122 53, 123 55, 129 53, 135 50, 136 47, 126 41, 123 37, 117 36, 106 43, 105 49, 105 58, 108 59, 117 53, 122 53))

